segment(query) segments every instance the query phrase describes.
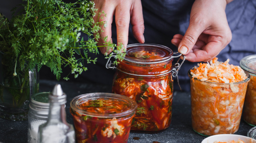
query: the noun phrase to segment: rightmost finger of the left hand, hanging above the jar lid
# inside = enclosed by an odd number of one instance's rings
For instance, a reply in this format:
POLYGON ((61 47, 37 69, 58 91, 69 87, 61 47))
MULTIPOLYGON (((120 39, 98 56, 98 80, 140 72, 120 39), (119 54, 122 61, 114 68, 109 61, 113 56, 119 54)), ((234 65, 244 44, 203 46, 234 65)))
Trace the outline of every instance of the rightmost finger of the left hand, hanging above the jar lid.
POLYGON ((143 14, 142 14, 142 6, 141 1, 136 1, 137 3, 133 4, 132 12, 131 12, 131 24, 132 24, 132 31, 133 36, 135 39, 140 42, 144 43, 144 20, 143 20, 143 14))

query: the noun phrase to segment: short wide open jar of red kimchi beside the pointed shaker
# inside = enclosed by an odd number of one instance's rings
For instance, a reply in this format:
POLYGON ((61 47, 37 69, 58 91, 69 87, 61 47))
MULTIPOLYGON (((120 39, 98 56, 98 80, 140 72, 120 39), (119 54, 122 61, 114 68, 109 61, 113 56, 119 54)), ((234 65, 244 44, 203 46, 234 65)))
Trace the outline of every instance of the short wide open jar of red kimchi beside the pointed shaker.
POLYGON ((88 93, 70 102, 76 142, 127 143, 137 103, 123 95, 88 93))

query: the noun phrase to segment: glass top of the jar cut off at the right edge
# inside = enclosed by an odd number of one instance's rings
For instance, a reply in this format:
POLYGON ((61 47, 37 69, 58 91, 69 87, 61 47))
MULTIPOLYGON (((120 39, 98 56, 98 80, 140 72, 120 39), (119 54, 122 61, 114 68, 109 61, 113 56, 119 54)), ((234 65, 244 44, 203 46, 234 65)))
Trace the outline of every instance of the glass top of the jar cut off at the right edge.
POLYGON ((256 74, 256 55, 245 56, 240 60, 240 66, 249 73, 256 74))

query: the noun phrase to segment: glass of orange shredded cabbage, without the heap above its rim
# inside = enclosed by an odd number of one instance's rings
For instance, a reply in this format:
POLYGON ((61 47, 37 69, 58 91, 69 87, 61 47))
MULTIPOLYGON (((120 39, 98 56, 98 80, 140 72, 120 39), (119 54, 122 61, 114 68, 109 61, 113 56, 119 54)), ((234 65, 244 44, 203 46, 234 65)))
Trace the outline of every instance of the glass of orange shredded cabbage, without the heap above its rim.
POLYGON ((250 75, 245 71, 247 78, 241 82, 215 83, 193 78, 190 70, 193 130, 205 136, 236 133, 250 75))

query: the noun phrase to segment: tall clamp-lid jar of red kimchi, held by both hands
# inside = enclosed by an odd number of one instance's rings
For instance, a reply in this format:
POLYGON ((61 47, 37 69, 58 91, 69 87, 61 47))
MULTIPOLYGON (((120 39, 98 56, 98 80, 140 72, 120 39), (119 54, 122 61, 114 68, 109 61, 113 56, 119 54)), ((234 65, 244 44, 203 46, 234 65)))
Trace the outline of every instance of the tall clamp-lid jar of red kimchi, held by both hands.
POLYGON ((124 59, 118 61, 112 91, 130 97, 138 104, 131 130, 155 133, 169 127, 172 75, 177 75, 181 66, 178 62, 172 65, 173 58, 181 56, 173 54, 171 49, 162 45, 131 44, 127 46, 124 59))

